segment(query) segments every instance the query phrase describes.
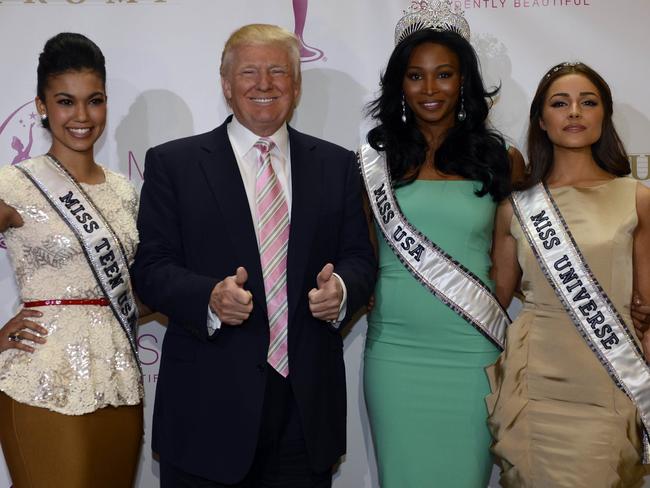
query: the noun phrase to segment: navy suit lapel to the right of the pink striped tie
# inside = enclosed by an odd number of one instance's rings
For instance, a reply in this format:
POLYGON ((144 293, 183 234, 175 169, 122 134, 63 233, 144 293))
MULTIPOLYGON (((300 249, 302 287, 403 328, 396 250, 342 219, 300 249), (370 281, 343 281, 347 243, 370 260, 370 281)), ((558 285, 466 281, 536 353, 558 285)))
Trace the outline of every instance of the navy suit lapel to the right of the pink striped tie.
POLYGON ((289 324, 293 324, 296 305, 300 301, 309 250, 316 231, 318 202, 321 198, 322 160, 300 133, 289 127, 291 150, 291 230, 287 256, 287 295, 289 324))

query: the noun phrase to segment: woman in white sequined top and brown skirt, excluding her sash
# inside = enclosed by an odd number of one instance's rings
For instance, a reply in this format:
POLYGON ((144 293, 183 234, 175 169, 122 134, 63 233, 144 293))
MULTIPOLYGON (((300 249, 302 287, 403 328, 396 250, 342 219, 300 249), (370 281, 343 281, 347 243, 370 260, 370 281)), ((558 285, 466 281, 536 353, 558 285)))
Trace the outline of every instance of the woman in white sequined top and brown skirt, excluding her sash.
POLYGON ((71 33, 50 39, 35 102, 52 146, 0 168, 0 231, 23 302, 0 329, 0 442, 16 488, 126 488, 135 479, 143 387, 133 341, 72 227, 23 171, 63 168, 131 263, 137 195, 94 160, 106 123, 105 80, 92 41, 71 33))

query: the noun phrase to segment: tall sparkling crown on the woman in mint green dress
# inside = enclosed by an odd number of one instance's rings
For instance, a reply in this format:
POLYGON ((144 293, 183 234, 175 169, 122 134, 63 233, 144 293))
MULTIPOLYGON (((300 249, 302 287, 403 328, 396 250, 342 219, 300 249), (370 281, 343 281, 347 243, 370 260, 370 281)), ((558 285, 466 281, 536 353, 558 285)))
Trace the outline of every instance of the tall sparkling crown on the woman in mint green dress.
POLYGON ((464 12, 451 0, 413 0, 395 26, 395 44, 423 29, 452 31, 469 42, 469 24, 464 12))

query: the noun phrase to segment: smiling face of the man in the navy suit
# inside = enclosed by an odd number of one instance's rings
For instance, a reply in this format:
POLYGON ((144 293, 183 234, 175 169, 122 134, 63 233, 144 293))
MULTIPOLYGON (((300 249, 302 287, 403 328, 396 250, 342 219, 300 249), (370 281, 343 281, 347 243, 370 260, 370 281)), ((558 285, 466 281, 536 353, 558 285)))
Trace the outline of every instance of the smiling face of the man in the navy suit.
POLYGON ((300 93, 287 49, 281 44, 236 46, 221 77, 237 120, 258 136, 270 136, 290 117, 300 93))

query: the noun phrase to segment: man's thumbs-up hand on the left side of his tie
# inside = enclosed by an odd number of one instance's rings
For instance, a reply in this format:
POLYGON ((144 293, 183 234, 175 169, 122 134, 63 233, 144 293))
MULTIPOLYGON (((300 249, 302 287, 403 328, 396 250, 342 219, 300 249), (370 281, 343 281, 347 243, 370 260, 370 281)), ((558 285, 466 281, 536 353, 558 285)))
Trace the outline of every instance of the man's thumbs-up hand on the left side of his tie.
POLYGON ((210 308, 221 323, 241 325, 253 311, 253 295, 244 289, 248 279, 246 268, 240 266, 233 276, 217 283, 210 294, 210 308))

